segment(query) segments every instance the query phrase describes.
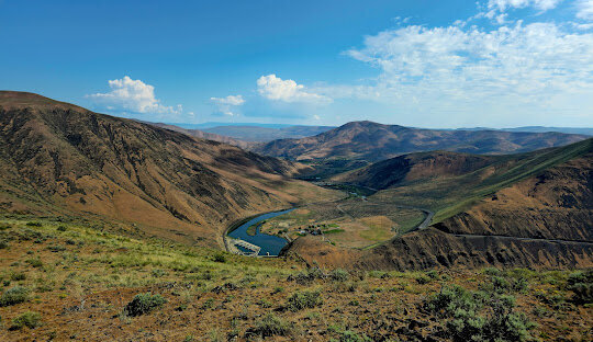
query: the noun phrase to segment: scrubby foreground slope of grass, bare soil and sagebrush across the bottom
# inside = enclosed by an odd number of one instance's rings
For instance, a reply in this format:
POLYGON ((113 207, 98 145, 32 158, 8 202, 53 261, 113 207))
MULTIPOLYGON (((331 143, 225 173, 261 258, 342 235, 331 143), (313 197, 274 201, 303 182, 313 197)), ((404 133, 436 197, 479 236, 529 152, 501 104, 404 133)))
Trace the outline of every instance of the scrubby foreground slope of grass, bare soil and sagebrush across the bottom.
POLYGON ((4 220, 0 340, 30 329, 56 341, 586 341, 590 333, 586 270, 326 270, 91 225, 4 220))

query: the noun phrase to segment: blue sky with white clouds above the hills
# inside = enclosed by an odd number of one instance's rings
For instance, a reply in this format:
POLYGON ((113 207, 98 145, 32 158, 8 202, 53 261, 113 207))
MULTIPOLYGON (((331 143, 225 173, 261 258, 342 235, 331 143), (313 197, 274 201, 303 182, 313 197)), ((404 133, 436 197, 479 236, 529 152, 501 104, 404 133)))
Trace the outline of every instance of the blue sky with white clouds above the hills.
POLYGON ((0 0, 0 89, 168 123, 593 127, 593 0, 0 0))

